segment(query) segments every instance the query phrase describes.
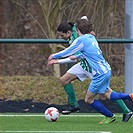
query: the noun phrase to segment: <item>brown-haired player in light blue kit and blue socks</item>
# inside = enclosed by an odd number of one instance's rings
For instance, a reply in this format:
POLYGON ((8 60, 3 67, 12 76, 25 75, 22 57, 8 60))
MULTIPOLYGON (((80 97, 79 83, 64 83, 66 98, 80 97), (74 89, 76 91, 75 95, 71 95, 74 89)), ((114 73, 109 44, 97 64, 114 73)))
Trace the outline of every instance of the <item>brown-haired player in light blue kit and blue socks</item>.
POLYGON ((77 55, 76 58, 84 56, 88 61, 90 67, 95 72, 88 91, 85 96, 85 102, 97 110, 99 113, 105 115, 108 119, 114 120, 114 115, 110 112, 101 102, 95 100, 95 96, 99 94, 110 100, 128 99, 133 101, 133 94, 124 94, 113 92, 109 88, 111 67, 108 62, 103 58, 102 51, 95 37, 90 33, 90 22, 85 20, 77 21, 78 37, 68 48, 65 50, 52 54, 48 58, 48 62, 52 59, 68 57, 75 52, 80 51, 82 54, 77 55), (84 35, 85 34, 85 35, 84 35))

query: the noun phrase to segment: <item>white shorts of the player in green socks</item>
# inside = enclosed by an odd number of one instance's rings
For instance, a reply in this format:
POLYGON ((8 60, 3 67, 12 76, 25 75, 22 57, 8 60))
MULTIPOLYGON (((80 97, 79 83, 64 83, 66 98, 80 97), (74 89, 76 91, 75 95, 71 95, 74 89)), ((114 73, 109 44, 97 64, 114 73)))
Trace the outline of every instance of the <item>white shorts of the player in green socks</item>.
POLYGON ((72 66, 68 71, 68 73, 76 75, 80 81, 84 81, 86 78, 92 79, 92 73, 87 72, 80 66, 80 62, 72 66))

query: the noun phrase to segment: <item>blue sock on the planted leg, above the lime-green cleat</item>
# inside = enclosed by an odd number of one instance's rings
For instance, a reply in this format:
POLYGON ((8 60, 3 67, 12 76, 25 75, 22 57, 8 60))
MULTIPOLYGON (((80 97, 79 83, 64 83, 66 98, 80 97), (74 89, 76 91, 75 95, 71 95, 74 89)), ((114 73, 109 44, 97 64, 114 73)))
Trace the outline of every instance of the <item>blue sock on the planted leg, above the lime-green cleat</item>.
POLYGON ((94 100, 93 103, 90 104, 92 108, 97 110, 99 113, 105 115, 106 117, 112 117, 113 113, 110 112, 100 101, 94 100))

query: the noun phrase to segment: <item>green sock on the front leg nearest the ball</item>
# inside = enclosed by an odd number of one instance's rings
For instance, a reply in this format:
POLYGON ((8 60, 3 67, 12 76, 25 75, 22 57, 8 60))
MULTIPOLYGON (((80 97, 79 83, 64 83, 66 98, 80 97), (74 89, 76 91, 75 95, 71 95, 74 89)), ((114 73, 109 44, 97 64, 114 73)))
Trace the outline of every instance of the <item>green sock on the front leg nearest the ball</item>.
POLYGON ((68 104, 70 104, 71 106, 77 106, 78 102, 76 100, 76 95, 75 95, 75 91, 74 91, 72 84, 70 83, 70 84, 65 85, 64 90, 68 97, 68 104))

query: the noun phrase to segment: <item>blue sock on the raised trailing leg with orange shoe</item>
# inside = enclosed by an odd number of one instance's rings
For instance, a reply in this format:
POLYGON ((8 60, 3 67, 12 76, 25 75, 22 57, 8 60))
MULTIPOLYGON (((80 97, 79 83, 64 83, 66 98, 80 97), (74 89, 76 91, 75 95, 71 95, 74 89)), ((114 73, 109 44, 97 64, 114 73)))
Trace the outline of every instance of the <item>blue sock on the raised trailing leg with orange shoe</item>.
POLYGON ((122 92, 117 93, 117 92, 112 91, 112 93, 110 95, 110 100, 119 100, 119 99, 128 99, 128 100, 132 101, 129 94, 124 94, 122 92))

